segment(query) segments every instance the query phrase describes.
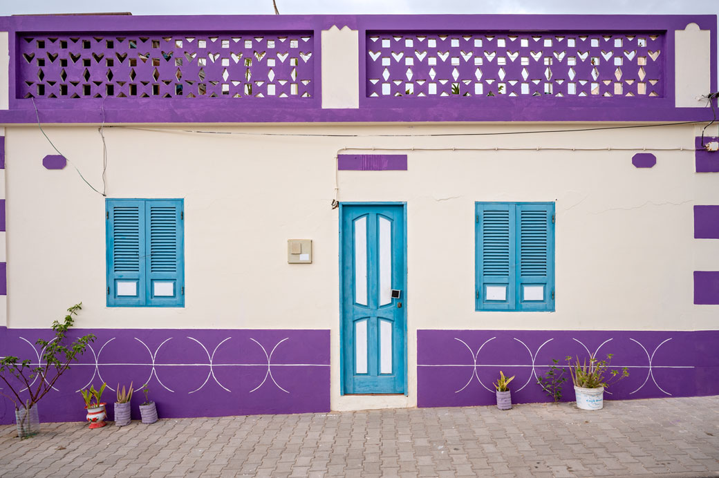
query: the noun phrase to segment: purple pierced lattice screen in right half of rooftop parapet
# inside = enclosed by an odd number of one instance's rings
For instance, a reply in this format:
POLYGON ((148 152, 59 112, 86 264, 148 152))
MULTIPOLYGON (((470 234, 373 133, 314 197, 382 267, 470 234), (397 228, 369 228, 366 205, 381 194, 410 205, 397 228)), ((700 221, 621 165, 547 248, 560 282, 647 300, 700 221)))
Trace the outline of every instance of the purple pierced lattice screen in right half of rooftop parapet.
POLYGON ((663 35, 367 35, 367 96, 664 96, 663 35))

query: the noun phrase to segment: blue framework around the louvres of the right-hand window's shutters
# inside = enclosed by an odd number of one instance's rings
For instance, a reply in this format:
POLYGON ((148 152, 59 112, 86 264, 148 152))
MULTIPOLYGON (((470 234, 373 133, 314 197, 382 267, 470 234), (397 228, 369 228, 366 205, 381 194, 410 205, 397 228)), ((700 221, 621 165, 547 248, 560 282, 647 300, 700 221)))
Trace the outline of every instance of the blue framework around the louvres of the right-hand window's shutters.
MULTIPOLYGON (((556 203, 554 201, 475 201, 475 311, 477 312, 554 312, 555 308, 555 268, 557 254, 555 249, 556 241, 556 203), (485 283, 482 280, 485 277, 482 270, 482 247, 483 238, 480 236, 483 225, 482 216, 485 213, 485 206, 498 206, 495 211, 501 211, 505 208, 508 212, 509 224, 509 249, 508 261, 510 270, 507 278, 499 279, 496 283, 507 283, 505 300, 491 301, 487 303, 485 300, 485 283), (525 206, 525 208, 523 208, 525 206), (528 206, 528 207, 527 207, 528 206), (528 284, 544 283, 544 300, 523 300, 521 297, 522 286, 527 285, 527 281, 521 277, 521 211, 546 211, 547 212, 547 229, 546 229, 546 275, 537 277, 546 277, 544 282, 537 279, 536 282, 528 281, 528 284), (511 265, 513 264, 513 265, 511 265)), ((495 282, 495 281, 493 281, 495 282)))

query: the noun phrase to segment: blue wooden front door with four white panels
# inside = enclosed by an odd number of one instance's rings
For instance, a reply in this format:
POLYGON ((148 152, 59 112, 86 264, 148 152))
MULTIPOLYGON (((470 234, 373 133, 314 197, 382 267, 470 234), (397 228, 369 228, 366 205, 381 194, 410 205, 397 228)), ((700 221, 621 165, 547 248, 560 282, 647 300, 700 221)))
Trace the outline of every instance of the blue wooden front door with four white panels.
POLYGON ((404 393, 404 206, 343 204, 340 218, 342 391, 404 393))

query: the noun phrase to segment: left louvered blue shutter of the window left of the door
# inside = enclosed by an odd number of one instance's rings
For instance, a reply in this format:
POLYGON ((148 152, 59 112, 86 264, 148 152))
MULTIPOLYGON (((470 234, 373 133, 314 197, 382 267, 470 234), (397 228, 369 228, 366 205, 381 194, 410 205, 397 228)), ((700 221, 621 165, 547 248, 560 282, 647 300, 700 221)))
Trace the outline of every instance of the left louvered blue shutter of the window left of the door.
POLYGON ((107 305, 143 305, 145 203, 107 199, 107 305))

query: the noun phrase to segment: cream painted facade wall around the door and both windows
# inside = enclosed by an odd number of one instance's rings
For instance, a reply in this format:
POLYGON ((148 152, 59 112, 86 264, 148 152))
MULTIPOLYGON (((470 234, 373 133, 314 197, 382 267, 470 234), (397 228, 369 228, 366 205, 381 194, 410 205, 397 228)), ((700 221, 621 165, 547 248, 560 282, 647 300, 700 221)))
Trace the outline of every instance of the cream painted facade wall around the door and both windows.
MULTIPOLYGON (((60 151, 101 188, 102 143, 96 127, 46 129, 60 151)), ((371 135, 544 127, 202 129, 371 135)), ((203 135, 122 127, 107 128, 105 134, 109 197, 185 198, 186 307, 106 308, 104 198, 71 165, 60 171, 42 167, 42 157, 53 152, 36 127, 9 127, 11 327, 47 327, 82 300, 79 327, 329 328, 333 409, 416 404, 419 328, 717 328, 719 305, 692 305, 692 272, 704 269, 702 264, 718 267, 719 252, 710 240, 693 239, 692 206, 719 204, 719 177, 694 173, 693 127, 412 139, 203 135), (335 155, 342 147, 603 150, 407 150, 406 172, 337 175, 340 201, 406 201, 408 207, 410 396, 377 398, 339 396, 338 217, 330 202, 335 155), (687 150, 656 152, 654 168, 637 169, 631 164, 633 152, 607 147, 687 150), (475 311, 475 201, 556 201, 556 312, 475 311), (313 264, 287 264, 290 238, 313 239, 313 264)))

